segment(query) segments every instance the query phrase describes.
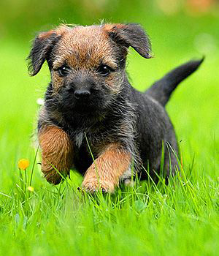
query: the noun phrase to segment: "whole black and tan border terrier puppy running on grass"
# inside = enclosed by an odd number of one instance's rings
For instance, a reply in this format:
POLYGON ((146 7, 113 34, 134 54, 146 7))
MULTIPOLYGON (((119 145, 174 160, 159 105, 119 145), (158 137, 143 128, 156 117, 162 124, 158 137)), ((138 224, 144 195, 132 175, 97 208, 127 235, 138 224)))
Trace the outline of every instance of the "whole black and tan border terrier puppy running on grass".
POLYGON ((59 173, 74 167, 86 191, 113 192, 132 170, 142 178, 145 169, 153 178, 162 168, 166 177, 174 174, 177 140, 164 106, 202 60, 177 67, 142 93, 128 82, 128 47, 151 58, 150 39, 134 23, 58 26, 34 40, 29 72, 37 75, 46 60, 51 75, 38 121, 48 182, 58 184, 59 173))

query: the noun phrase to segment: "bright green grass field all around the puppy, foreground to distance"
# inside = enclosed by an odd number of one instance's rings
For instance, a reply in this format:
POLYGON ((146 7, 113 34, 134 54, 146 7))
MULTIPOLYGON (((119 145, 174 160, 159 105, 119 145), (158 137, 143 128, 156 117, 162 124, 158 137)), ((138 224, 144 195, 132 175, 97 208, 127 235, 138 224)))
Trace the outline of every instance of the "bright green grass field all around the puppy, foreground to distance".
POLYGON ((71 180, 58 187, 41 177, 34 164, 34 129, 37 99, 43 97, 49 73, 45 66, 36 78, 28 77, 30 43, 1 41, 0 255, 219 254, 218 20, 183 24, 180 18, 143 24, 155 59, 145 60, 133 50, 128 58, 133 84, 144 90, 207 49, 204 64, 167 105, 183 155, 182 176, 168 186, 144 181, 94 197, 77 191, 82 177, 73 171, 71 180), (30 161, 27 184, 20 182, 22 158, 30 161), (32 168, 34 192, 26 188, 32 168))

